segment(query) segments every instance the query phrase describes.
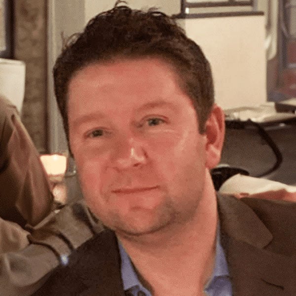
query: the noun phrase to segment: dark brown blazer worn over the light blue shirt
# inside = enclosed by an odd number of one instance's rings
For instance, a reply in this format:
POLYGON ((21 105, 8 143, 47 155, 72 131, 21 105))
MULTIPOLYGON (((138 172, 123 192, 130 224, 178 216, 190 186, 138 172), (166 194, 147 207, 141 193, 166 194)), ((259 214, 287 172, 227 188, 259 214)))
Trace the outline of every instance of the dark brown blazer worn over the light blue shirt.
MULTIPOLYGON (((222 246, 234 296, 296 295, 296 203, 219 196, 222 246)), ((35 296, 124 296, 115 234, 78 248, 35 296)))

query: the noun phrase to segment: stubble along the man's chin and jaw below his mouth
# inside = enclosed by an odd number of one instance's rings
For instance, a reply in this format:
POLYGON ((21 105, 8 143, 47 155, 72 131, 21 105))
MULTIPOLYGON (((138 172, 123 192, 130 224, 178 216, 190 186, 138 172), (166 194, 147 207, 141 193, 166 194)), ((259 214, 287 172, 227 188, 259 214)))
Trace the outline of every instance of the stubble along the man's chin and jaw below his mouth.
MULTIPOLYGON (((176 226, 180 228, 184 222, 192 220, 191 217, 196 212, 196 201, 193 204, 191 200, 185 208, 180 208, 181 205, 177 203, 179 199, 163 196, 163 202, 155 209, 127 208, 126 212, 122 211, 120 204, 110 206, 109 194, 100 194, 96 199, 92 198, 88 204, 91 212, 118 237, 139 240, 141 237, 144 239, 155 234, 173 233, 176 226)), ((185 197, 182 199, 186 200, 185 197)))

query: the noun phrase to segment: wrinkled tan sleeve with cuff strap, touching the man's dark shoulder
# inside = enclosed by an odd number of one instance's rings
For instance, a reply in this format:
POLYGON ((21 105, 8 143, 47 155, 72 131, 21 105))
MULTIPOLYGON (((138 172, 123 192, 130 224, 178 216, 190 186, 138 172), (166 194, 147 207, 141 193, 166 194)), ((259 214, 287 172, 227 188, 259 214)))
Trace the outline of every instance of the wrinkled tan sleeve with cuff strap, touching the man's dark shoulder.
POLYGON ((102 229, 83 202, 65 206, 30 230, 30 245, 0 255, 0 294, 30 296, 59 264, 102 229))

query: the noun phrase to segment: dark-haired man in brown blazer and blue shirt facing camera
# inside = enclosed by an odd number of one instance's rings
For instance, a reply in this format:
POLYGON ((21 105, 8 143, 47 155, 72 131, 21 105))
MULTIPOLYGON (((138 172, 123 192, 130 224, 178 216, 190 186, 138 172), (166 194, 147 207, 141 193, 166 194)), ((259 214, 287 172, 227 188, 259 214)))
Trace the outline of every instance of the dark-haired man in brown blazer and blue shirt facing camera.
POLYGON ((295 295, 296 206, 218 196, 224 118, 174 20, 115 6, 54 68, 85 201, 105 228, 35 295, 295 295))

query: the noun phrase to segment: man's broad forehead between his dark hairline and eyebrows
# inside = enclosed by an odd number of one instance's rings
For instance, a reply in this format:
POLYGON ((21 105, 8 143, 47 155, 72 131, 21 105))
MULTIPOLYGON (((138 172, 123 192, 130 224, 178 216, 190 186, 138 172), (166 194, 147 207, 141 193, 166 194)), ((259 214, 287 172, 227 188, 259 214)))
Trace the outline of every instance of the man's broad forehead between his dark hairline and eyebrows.
POLYGON ((116 108, 129 111, 157 101, 182 106, 188 100, 191 103, 168 62, 157 58, 115 60, 90 64, 73 76, 68 88, 68 113, 116 108))

